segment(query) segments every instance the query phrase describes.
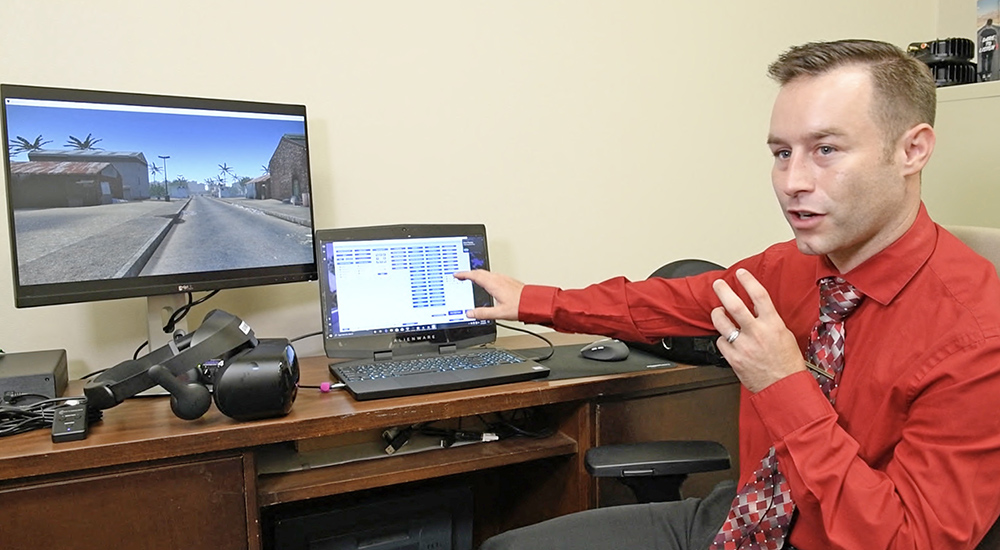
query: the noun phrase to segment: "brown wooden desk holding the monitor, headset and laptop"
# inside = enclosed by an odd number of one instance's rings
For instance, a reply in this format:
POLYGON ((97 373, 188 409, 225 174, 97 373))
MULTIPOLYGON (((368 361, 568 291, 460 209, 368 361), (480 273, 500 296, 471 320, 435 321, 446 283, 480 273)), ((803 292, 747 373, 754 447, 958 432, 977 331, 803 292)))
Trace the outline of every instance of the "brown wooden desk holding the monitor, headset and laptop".
MULTIPOLYGON (((558 335, 558 343, 590 341, 558 335)), ((536 345, 525 337, 509 347, 536 345)), ((329 381, 327 361, 303 358, 301 383, 329 381)), ((715 439, 737 452, 738 382, 728 369, 676 367, 547 380, 368 402, 301 389, 289 415, 237 422, 214 407, 180 420, 165 398, 105 411, 84 441, 53 444, 48 430, 0 440, 0 537, 19 548, 261 547, 261 510, 306 499, 450 476, 474 488, 475 538, 627 499, 598 484, 583 453, 602 443, 715 439), (545 439, 512 438, 259 476, 264 446, 366 430, 542 407, 558 426, 545 439)), ((68 395, 82 394, 73 382, 68 395)), ((692 480, 703 493, 729 472, 692 480)))

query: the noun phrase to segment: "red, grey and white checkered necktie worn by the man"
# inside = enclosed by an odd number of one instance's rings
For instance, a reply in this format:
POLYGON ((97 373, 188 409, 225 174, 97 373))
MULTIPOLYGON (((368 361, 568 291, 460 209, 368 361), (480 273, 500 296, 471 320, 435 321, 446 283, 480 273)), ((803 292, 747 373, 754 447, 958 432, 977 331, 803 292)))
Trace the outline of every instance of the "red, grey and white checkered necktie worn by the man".
MULTIPOLYGON (((813 374, 830 402, 830 392, 840 381, 844 368, 844 319, 864 297, 840 277, 820 279, 819 321, 809 336, 808 361, 830 376, 813 374)), ((795 503, 788 481, 778 470, 774 447, 768 451, 744 485, 729 516, 715 535, 710 550, 777 550, 788 536, 795 513, 795 503)))

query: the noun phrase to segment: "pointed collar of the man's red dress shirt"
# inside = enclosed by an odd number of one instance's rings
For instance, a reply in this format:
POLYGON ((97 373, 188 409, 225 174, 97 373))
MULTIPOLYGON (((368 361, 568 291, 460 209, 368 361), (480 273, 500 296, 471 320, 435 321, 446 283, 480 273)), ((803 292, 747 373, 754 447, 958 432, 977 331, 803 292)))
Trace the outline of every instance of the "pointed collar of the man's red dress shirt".
POLYGON ((931 220, 921 202, 916 220, 902 237, 844 274, 823 256, 822 261, 816 264, 816 280, 841 277, 868 298, 888 305, 927 263, 936 243, 937 224, 931 220))

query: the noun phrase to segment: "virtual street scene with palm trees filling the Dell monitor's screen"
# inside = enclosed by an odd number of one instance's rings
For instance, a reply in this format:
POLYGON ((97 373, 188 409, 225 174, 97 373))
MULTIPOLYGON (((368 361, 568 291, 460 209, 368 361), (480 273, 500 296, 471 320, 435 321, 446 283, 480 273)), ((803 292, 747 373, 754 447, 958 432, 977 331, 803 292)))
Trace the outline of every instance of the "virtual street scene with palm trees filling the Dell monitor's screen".
POLYGON ((45 103, 6 106, 21 285, 313 261, 304 117, 45 103))

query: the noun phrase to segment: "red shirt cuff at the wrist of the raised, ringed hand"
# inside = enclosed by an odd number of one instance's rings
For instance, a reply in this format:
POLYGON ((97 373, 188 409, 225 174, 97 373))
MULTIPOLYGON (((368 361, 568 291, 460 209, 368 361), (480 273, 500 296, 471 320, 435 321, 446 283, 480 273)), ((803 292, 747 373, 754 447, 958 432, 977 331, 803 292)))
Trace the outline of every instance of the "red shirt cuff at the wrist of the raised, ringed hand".
POLYGON ((750 404, 773 441, 816 420, 836 414, 809 371, 786 376, 750 395, 750 404))

